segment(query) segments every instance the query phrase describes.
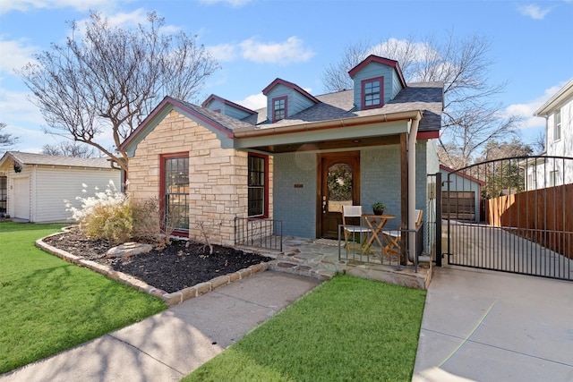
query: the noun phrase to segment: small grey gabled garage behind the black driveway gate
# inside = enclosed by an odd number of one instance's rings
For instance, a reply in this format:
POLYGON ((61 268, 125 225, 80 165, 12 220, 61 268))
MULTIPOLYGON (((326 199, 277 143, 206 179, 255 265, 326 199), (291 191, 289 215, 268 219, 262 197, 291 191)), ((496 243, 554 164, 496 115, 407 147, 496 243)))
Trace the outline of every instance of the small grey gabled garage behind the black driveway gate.
POLYGON ((457 173, 448 166, 440 165, 441 216, 454 220, 480 222, 482 186, 485 182, 473 176, 457 173))

